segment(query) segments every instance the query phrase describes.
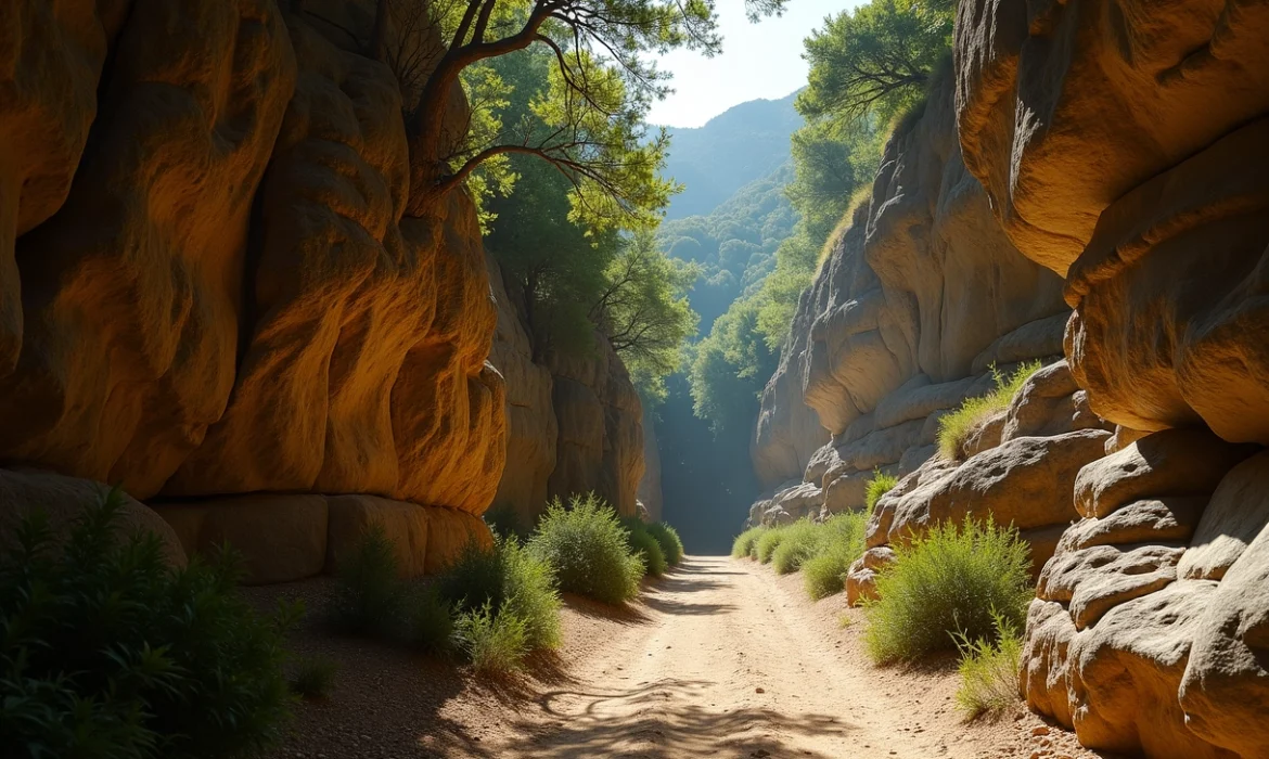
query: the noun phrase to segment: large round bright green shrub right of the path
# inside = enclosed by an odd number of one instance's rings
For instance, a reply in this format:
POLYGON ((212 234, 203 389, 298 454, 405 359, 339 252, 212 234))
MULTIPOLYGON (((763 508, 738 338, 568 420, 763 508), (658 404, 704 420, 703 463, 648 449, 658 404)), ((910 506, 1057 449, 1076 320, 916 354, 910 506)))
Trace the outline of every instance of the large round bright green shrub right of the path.
POLYGON ((1010 528, 966 518, 935 527, 877 576, 864 644, 878 663, 911 661, 954 647, 954 635, 995 635, 995 617, 1022 627, 1033 589, 1030 550, 1010 528))

